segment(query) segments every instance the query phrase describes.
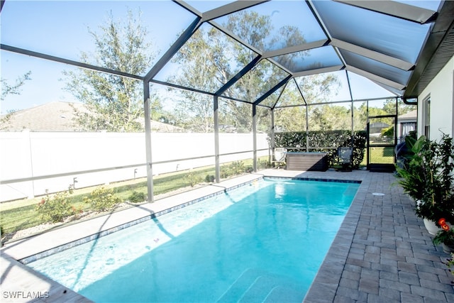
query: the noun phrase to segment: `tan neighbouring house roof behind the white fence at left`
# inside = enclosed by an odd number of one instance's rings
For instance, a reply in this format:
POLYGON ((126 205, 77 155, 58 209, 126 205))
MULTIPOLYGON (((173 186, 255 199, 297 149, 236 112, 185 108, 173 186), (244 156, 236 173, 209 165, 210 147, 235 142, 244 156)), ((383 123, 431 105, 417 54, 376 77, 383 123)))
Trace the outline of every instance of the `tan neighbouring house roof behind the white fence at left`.
MULTIPOLYGON (((76 111, 87 111, 82 103, 54 101, 11 114, 0 126, 1 131, 81 131, 77 123, 76 111)), ((1 116, 4 119, 6 115, 1 116)), ((184 128, 167 123, 151 121, 151 130, 160 133, 182 132, 184 128)))

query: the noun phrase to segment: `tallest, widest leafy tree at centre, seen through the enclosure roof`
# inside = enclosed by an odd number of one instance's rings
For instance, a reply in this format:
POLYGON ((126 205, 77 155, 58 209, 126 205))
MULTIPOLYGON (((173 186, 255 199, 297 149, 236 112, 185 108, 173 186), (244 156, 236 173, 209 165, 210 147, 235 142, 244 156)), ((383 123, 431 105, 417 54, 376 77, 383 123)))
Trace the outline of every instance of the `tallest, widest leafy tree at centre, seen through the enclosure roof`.
MULTIPOLYGON (((261 16, 257 12, 240 11, 232 14, 228 16, 228 21, 223 26, 228 31, 243 38, 248 44, 262 50, 284 48, 305 42, 298 28, 292 26, 279 28, 277 34, 270 38, 270 33, 273 31, 270 16, 261 16)), ((174 57, 174 62, 179 64, 180 69, 177 75, 169 79, 169 82, 185 87, 203 89, 206 92, 216 92, 256 55, 216 28, 206 29, 201 27, 174 57)), ((279 58, 279 63, 290 65, 293 62, 292 56, 296 55, 301 56, 301 53, 283 56, 279 58)), ((272 65, 271 62, 262 60, 224 94, 228 97, 253 103, 285 76, 287 76, 287 73, 272 65)), ((326 86, 335 80, 331 76, 319 76, 314 79, 318 79, 316 84, 326 86)), ((304 89, 313 91, 314 87, 307 84, 304 89)), ((326 95, 328 88, 322 87, 321 89, 323 90, 321 94, 326 95)), ((314 95, 318 93, 320 92, 314 92, 314 95)), ((176 108, 176 111, 181 113, 179 114, 180 119, 177 119, 177 124, 188 126, 194 123, 199 128, 199 123, 197 123, 197 119, 199 119, 205 122, 206 131, 211 131, 213 113, 212 106, 207 106, 207 103, 212 103, 212 97, 206 99, 201 97, 200 94, 187 91, 182 91, 181 94, 183 98, 177 101, 178 106, 176 108), (192 114, 189 114, 188 118, 188 113, 191 111, 192 114), (183 117, 187 119, 186 123, 182 121, 183 117)), ((298 104, 301 104, 301 95, 294 94, 294 99, 298 100, 298 104)), ((222 114, 220 115, 221 123, 234 126, 240 132, 249 132, 252 128, 252 106, 246 102, 231 100, 223 102, 222 114)), ((267 111, 257 111, 257 113, 258 125, 262 125, 261 120, 270 119, 267 111)), ((288 123, 281 121, 282 124, 295 123, 294 116, 282 116, 282 119, 289 119, 288 123)))

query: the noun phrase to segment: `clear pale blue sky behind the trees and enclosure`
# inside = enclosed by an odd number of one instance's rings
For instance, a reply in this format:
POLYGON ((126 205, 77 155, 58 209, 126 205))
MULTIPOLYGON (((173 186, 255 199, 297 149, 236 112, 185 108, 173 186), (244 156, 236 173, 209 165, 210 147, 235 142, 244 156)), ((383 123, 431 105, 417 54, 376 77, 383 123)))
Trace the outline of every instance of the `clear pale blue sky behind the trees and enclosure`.
MULTIPOLYGON (((188 1, 200 11, 213 9, 228 1, 188 1)), ((79 60, 81 52, 90 53, 94 43, 88 29, 99 30, 109 13, 119 20, 128 9, 142 13, 143 25, 148 37, 157 50, 159 59, 176 40, 194 15, 170 1, 21 1, 7 0, 1 11, 1 43, 47 53, 70 60, 79 60)), ((282 18, 274 11, 275 18, 282 18)), ((318 33, 308 33, 318 35, 318 33)), ((314 38, 316 40, 316 38, 314 38)), ((18 55, 4 50, 0 52, 1 79, 13 84, 18 77, 31 71, 31 80, 21 87, 20 95, 9 95, 1 101, 1 114, 11 110, 26 109, 51 101, 77 101, 66 92, 63 70, 75 67, 49 60, 18 55)), ((345 83, 345 80, 342 80, 345 83)), ((352 75, 351 82, 360 82, 362 92, 355 92, 354 99, 377 96, 388 97, 391 93, 377 88, 375 84, 360 76, 352 75)))

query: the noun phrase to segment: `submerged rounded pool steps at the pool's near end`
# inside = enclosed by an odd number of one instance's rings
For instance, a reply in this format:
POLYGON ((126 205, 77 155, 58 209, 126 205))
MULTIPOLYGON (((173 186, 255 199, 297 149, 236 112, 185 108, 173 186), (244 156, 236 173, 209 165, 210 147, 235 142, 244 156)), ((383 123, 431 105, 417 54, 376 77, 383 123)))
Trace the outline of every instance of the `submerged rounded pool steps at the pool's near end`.
POLYGON ((248 268, 217 302, 301 302, 304 293, 291 277, 248 268))

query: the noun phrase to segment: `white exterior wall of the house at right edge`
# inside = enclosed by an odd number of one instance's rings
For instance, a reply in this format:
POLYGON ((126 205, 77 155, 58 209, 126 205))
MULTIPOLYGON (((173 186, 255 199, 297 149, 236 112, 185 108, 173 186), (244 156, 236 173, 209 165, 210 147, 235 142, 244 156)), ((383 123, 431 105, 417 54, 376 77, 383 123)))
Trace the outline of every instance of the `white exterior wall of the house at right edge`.
POLYGON ((438 75, 428 84, 418 97, 418 136, 424 133, 423 100, 430 97, 430 139, 439 140, 442 132, 450 136, 454 133, 454 57, 448 61, 438 75))

